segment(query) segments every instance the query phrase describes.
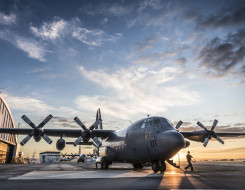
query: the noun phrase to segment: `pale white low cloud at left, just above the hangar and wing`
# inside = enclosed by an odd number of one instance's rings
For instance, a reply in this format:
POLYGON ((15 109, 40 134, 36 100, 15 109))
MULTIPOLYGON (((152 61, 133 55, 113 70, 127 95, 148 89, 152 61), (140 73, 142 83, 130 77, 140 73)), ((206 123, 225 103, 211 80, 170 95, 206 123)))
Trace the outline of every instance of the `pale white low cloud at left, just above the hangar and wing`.
POLYGON ((11 110, 21 110, 35 114, 47 114, 54 110, 53 107, 47 105, 42 100, 32 97, 19 97, 4 93, 4 98, 11 110))

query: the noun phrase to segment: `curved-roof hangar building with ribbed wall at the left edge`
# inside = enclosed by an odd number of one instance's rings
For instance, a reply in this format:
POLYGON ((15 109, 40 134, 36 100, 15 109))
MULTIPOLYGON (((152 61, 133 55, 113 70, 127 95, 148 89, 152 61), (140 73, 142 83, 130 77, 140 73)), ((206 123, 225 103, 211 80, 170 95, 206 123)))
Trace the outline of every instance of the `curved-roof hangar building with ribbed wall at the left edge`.
MULTIPOLYGON (((0 93, 0 128, 15 128, 10 109, 0 93)), ((16 155, 17 137, 0 133, 0 163, 10 163, 16 155)))

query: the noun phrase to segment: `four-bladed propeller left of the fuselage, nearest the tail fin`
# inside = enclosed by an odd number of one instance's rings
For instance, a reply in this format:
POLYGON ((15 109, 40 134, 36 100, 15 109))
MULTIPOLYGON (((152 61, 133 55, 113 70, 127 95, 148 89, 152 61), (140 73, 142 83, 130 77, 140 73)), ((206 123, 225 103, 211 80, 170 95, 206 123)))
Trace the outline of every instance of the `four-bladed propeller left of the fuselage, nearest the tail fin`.
POLYGON ((73 145, 74 146, 77 146, 81 141, 83 142, 88 142, 90 138, 93 139, 93 144, 96 146, 96 147, 99 147, 101 145, 101 142, 100 140, 94 136, 93 134, 93 130, 94 128, 96 128, 100 123, 101 121, 99 119, 97 119, 94 124, 89 128, 87 129, 87 127, 82 123, 82 121, 78 118, 78 117, 75 117, 74 118, 74 121, 80 126, 82 127, 83 131, 81 131, 81 136, 78 137, 74 142, 73 142, 73 145))

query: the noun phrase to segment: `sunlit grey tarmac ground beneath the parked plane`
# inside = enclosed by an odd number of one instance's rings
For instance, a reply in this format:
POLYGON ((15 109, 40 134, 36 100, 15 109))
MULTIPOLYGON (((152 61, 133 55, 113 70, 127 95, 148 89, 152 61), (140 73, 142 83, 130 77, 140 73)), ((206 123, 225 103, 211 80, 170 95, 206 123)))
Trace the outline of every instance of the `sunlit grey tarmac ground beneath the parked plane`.
POLYGON ((113 164, 108 170, 75 162, 5 164, 0 165, 0 189, 245 189, 243 162, 193 166, 194 172, 185 172, 167 164, 166 172, 155 174, 150 167, 134 170, 130 164, 113 164))

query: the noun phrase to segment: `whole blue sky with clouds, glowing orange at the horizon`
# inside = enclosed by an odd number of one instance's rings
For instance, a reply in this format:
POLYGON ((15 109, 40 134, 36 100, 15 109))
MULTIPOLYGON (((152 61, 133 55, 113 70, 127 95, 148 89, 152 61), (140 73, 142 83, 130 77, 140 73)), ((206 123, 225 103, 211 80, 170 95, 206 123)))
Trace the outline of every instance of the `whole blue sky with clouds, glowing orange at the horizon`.
MULTIPOLYGON (((89 126, 101 108, 105 129, 150 114, 184 121, 180 131, 217 119, 215 131, 245 132, 244 57, 244 1, 0 0, 0 90, 20 128, 23 114, 36 125, 52 114, 44 128, 79 129, 75 116, 89 126)), ((224 140, 188 150, 245 158, 244 138, 224 140)))

